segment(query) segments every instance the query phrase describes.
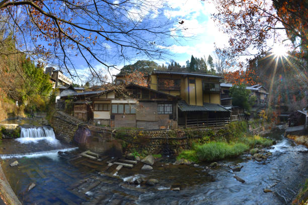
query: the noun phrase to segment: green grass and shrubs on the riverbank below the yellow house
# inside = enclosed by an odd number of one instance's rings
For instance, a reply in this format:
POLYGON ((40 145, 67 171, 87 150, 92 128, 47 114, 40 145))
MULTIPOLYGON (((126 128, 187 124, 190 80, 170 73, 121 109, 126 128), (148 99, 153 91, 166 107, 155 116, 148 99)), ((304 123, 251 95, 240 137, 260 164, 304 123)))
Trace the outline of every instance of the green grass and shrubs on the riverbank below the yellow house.
POLYGON ((260 137, 259 135, 250 135, 248 133, 248 123, 245 121, 233 122, 227 126, 225 131, 228 135, 225 137, 211 138, 206 143, 194 141, 190 150, 183 150, 177 159, 187 159, 189 161, 214 161, 224 158, 239 156, 249 149, 256 146, 270 146, 273 141, 260 137))

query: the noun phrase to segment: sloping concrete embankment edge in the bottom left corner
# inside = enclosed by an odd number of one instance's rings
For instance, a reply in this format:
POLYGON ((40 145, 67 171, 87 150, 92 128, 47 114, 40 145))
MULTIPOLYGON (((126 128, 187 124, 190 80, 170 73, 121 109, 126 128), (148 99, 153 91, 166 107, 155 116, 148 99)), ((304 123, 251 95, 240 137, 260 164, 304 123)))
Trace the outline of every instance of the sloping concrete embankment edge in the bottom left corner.
POLYGON ((4 174, 0 164, 0 196, 7 204, 21 205, 22 203, 17 198, 16 194, 12 190, 6 175, 4 174))

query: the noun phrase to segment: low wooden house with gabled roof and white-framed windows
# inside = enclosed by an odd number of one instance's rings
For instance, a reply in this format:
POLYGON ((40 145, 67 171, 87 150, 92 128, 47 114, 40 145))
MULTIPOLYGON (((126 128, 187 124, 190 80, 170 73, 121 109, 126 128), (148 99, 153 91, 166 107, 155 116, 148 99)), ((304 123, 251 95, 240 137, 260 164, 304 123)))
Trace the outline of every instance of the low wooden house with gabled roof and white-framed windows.
POLYGON ((74 116, 114 128, 177 128, 178 97, 136 84, 62 96, 73 99, 74 116), (87 115, 86 115, 87 113, 87 115))

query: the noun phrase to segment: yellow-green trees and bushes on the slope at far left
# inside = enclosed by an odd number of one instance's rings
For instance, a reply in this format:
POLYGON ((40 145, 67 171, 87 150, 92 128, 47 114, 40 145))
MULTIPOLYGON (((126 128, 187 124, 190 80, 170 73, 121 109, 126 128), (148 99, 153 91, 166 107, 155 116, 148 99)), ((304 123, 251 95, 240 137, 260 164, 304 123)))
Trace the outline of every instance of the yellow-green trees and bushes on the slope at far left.
POLYGON ((0 54, 0 121, 45 111, 52 83, 44 74, 44 64, 34 64, 17 50, 12 35, 2 41, 0 51, 15 53, 0 54))

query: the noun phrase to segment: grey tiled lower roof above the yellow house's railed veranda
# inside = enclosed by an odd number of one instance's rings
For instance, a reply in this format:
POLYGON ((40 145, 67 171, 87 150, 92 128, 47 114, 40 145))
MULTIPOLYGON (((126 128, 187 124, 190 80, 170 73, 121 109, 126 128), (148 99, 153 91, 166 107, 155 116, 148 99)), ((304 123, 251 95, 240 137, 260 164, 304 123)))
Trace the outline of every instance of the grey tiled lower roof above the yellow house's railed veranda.
POLYGON ((187 103, 184 100, 180 100, 178 102, 178 107, 182 112, 193 112, 193 111, 229 112, 228 109, 218 104, 203 103, 203 106, 191 106, 187 105, 187 103))

